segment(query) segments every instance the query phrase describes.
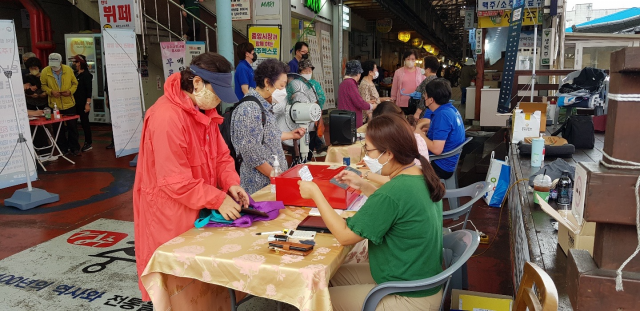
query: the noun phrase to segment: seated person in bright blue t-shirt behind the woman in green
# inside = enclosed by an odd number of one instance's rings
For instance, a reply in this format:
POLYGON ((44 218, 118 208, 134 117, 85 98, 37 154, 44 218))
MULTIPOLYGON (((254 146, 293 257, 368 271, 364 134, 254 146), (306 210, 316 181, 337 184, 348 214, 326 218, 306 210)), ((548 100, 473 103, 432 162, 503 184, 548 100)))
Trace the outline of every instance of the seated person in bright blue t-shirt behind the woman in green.
MULTIPOLYGON (((423 93, 425 106, 428 109, 425 113, 427 119, 418 122, 416 131, 427 142, 429 152, 440 155, 458 148, 465 141, 464 124, 462 116, 449 100, 451 99, 451 84, 443 78, 429 82, 423 93), (431 112, 429 114, 429 112, 431 112), (427 121, 429 120, 430 121, 427 121), (421 129, 427 125, 429 130, 427 135, 421 129)), ((440 160, 431 161, 431 166, 436 171, 438 177, 448 179, 455 173, 459 155, 440 160)))

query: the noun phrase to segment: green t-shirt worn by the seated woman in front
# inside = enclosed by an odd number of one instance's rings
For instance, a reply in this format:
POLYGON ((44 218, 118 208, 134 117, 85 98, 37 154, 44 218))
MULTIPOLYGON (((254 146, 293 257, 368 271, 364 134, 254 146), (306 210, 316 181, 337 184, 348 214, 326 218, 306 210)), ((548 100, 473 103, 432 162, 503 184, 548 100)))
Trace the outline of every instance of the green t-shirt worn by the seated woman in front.
MULTIPOLYGON (((442 201, 431 201, 422 175, 398 175, 378 189, 347 226, 369 239, 376 283, 415 281, 442 272, 442 201)), ((440 287, 400 293, 426 297, 440 287)))

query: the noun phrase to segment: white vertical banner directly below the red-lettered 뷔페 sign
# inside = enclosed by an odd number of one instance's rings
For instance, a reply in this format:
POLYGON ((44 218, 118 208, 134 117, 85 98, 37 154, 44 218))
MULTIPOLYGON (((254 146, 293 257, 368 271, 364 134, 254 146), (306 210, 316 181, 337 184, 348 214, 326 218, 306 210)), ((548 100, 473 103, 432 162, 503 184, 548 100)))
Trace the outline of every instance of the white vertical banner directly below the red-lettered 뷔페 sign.
POLYGON ((140 74, 133 30, 103 29, 116 158, 138 152, 142 132, 140 74))

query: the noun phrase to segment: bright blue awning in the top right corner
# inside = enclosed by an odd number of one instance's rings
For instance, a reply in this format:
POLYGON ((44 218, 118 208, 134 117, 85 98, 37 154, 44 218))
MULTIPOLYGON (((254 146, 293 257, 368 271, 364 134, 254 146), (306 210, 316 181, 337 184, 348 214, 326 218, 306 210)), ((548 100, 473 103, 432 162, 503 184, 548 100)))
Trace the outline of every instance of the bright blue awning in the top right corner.
POLYGON ((640 26, 640 8, 630 8, 611 15, 574 25, 566 32, 616 33, 640 26))

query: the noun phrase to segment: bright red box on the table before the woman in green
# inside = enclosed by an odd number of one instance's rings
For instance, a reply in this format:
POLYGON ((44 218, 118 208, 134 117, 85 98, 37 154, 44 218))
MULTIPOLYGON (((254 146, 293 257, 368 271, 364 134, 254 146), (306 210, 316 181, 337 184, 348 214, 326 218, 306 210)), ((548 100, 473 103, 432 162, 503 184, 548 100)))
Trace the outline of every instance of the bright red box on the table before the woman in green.
MULTIPOLYGON (((284 205, 316 207, 313 200, 303 199, 300 196, 298 181, 301 178, 298 171, 302 166, 302 164, 296 165, 276 177, 276 200, 282 201, 284 205)), ((345 169, 344 166, 307 165, 307 167, 313 176, 313 182, 320 187, 320 191, 334 209, 347 209, 360 196, 359 190, 343 189, 330 182, 334 176, 345 169)))

